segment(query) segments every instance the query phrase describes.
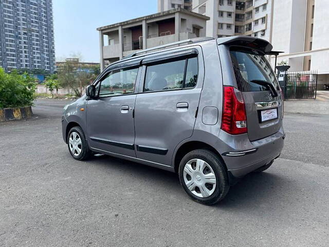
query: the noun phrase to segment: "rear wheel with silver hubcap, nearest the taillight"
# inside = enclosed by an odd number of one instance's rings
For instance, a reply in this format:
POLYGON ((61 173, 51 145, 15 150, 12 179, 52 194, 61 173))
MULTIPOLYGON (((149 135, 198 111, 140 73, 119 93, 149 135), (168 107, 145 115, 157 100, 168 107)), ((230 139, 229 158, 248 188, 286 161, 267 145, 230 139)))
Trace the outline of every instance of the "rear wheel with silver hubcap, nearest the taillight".
POLYGON ((180 161, 178 173, 180 184, 198 203, 215 204, 226 196, 230 187, 224 164, 206 149, 187 153, 180 161))

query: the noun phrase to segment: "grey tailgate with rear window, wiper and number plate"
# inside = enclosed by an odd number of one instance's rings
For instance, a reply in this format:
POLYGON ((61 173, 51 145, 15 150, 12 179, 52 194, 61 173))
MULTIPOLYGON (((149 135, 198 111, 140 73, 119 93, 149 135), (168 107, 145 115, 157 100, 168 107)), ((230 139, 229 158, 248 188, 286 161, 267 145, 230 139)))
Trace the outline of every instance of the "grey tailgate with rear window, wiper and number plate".
POLYGON ((266 57, 257 50, 234 46, 230 47, 230 57, 245 102, 249 139, 278 132, 282 126, 282 95, 266 57))

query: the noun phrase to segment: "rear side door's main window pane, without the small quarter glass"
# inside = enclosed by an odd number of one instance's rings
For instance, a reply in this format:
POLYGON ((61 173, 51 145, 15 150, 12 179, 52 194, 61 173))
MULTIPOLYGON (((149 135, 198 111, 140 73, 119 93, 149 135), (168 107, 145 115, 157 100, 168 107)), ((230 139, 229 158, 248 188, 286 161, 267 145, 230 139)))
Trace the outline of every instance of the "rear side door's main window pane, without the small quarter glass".
POLYGON ((148 66, 144 91, 181 89, 184 69, 185 60, 148 66))

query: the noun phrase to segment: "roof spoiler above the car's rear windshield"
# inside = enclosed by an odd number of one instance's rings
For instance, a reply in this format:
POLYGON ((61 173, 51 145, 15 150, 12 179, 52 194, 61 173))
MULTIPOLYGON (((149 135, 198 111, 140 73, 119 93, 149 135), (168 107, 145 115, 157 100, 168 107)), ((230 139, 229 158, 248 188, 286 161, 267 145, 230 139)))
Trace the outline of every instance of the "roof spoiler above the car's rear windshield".
POLYGON ((273 46, 266 40, 250 36, 233 36, 218 38, 218 45, 243 46, 250 49, 261 51, 264 55, 272 55, 273 46))

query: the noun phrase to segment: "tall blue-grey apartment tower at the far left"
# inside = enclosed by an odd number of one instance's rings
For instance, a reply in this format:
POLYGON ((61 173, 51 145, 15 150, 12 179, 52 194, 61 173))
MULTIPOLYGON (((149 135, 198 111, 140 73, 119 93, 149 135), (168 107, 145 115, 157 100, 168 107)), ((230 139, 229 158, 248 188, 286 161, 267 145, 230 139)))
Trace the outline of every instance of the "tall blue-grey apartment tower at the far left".
POLYGON ((52 0, 0 1, 0 66, 19 68, 55 67, 52 0))

